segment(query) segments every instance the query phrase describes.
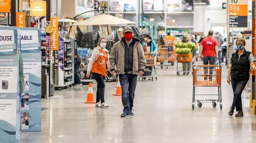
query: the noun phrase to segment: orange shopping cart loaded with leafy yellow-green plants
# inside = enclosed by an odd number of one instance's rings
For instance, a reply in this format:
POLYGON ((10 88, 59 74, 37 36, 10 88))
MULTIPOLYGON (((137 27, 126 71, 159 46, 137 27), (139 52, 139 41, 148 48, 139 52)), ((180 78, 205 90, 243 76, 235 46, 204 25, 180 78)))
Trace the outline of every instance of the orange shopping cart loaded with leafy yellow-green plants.
MULTIPOLYGON (((177 75, 180 75, 180 72, 183 72, 183 66, 180 66, 180 64, 182 63, 188 63, 190 66, 192 67, 192 61, 193 61, 193 54, 177 54, 177 75)), ((192 72, 192 69, 190 68, 190 70, 185 71, 186 75, 189 75, 189 73, 192 72)))

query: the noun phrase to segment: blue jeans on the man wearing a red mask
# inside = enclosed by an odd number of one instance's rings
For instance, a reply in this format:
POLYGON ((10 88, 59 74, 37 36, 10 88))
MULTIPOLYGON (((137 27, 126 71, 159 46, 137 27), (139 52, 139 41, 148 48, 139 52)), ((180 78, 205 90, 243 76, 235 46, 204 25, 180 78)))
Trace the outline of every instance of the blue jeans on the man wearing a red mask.
POLYGON ((126 111, 133 107, 134 93, 137 86, 137 75, 121 74, 119 75, 119 80, 122 87, 123 111, 126 111))

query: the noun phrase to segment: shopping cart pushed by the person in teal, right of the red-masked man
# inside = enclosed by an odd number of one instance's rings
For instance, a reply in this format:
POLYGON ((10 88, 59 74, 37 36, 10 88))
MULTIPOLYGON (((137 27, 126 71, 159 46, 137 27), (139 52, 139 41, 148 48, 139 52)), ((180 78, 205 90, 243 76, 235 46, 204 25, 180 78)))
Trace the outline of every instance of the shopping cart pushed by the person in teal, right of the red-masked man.
POLYGON ((155 80, 157 80, 157 74, 156 74, 156 53, 155 52, 145 52, 145 58, 146 58, 146 66, 147 67, 152 67, 152 71, 151 74, 146 74, 146 72, 144 72, 144 75, 142 77, 139 77, 138 80, 140 80, 140 78, 142 78, 142 81, 144 80, 144 78, 151 78, 151 80, 153 81, 153 78, 155 78, 155 80))

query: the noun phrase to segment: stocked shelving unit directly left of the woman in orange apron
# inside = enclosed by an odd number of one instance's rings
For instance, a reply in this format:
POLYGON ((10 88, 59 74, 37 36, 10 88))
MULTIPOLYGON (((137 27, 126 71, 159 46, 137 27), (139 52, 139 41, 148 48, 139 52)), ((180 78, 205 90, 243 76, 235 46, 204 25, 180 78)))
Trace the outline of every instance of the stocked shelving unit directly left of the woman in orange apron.
POLYGON ((55 88, 68 88, 74 83, 74 39, 72 36, 63 35, 63 48, 55 51, 55 88))

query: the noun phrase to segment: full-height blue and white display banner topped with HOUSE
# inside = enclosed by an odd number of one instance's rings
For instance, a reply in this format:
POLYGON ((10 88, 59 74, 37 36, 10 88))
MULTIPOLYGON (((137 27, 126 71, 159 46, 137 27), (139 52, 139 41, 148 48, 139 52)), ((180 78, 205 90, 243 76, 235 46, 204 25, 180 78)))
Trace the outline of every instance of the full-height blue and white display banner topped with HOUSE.
POLYGON ((20 143, 19 67, 16 27, 0 27, 0 143, 20 143))

